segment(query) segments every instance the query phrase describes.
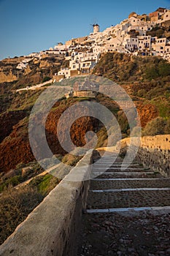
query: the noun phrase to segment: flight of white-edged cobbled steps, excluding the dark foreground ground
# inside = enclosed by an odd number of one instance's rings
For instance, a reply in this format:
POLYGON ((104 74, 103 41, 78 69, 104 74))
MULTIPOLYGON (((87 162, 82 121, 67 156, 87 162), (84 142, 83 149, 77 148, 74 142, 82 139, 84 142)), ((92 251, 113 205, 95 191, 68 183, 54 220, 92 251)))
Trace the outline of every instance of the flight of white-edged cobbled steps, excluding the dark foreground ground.
POLYGON ((135 211, 170 206, 170 178, 139 165, 135 160, 130 165, 114 156, 95 160, 90 182, 87 212, 135 211), (123 165, 121 165, 123 163, 123 165), (103 173, 106 165, 110 167, 103 173), (121 170, 121 167, 128 167, 121 170))

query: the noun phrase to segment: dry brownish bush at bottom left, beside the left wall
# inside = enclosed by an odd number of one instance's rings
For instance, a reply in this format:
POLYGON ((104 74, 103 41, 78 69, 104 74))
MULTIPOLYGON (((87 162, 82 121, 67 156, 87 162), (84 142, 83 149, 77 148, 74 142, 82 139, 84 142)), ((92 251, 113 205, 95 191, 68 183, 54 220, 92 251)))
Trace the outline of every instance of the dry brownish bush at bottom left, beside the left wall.
POLYGON ((34 187, 9 189, 0 197, 0 243, 10 236, 28 214, 43 200, 34 187))

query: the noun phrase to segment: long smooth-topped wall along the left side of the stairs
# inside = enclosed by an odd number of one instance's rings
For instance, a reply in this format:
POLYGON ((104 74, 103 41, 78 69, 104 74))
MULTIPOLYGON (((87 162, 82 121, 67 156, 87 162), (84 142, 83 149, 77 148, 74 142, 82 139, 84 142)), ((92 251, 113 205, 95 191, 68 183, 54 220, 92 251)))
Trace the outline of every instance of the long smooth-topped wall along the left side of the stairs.
POLYGON ((85 208, 93 151, 53 189, 1 245, 1 256, 75 256, 82 209, 85 208), (74 180, 76 177, 80 181, 74 180), (84 180, 84 181, 83 181, 84 180))

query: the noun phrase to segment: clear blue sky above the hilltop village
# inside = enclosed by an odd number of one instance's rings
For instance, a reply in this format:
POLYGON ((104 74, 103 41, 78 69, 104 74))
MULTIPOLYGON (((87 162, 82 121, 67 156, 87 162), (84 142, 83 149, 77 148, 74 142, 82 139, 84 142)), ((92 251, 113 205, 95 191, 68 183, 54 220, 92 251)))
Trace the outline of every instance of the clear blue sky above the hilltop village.
POLYGON ((0 59, 47 50, 83 37, 98 23, 101 31, 128 18, 150 13, 170 0, 0 0, 0 59))

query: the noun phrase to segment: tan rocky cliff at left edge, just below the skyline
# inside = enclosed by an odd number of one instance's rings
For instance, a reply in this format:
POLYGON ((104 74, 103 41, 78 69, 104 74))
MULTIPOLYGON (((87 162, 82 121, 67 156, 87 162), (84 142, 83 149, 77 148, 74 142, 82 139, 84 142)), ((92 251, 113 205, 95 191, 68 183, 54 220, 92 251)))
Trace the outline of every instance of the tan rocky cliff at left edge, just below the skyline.
POLYGON ((64 61, 63 55, 44 54, 41 59, 15 57, 0 61, 0 83, 13 82, 18 86, 42 83, 45 76, 53 77, 64 61), (18 64, 28 61, 26 68, 18 69, 18 64))

